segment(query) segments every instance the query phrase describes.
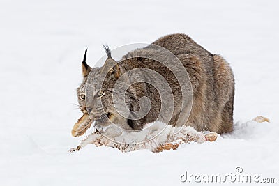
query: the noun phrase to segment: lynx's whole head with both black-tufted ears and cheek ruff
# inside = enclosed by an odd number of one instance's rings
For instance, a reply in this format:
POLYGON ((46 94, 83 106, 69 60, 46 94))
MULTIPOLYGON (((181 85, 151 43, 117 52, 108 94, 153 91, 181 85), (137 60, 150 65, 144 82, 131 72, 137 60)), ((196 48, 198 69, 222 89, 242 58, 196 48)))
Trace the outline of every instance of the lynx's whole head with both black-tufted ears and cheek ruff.
MULTIPOLYGON (((110 48, 104 46, 107 53, 105 64, 100 68, 91 68, 86 64, 86 52, 82 61, 83 82, 77 88, 77 97, 80 109, 84 114, 89 114, 92 121, 96 121, 98 125, 110 125, 111 123, 121 123, 125 125, 126 118, 121 116, 115 108, 113 95, 120 94, 124 85, 115 88, 115 84, 119 77, 125 72, 121 65, 112 59, 110 48)), ((122 78, 122 83, 128 84, 128 78, 122 78), (124 80, 123 80, 124 79, 124 80)), ((117 102, 123 103, 130 107, 131 102, 135 102, 136 95, 132 86, 126 88, 128 96, 119 96, 117 102)), ((129 108, 130 109, 130 108, 129 108)), ((125 127, 125 126, 122 126, 125 127)), ((125 127, 128 129, 128 127, 125 127)))

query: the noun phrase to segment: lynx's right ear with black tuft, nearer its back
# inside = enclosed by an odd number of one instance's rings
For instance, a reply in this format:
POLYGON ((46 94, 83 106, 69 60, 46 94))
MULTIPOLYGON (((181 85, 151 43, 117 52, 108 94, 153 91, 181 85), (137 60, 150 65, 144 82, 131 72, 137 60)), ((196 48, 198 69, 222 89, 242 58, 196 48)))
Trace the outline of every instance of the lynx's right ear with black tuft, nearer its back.
POLYGON ((107 45, 103 45, 105 52, 107 53, 107 59, 105 60, 105 64, 103 65, 103 68, 101 70, 102 73, 111 73, 115 79, 118 79, 120 77, 120 68, 119 64, 112 59, 112 52, 110 51, 110 47, 107 45))

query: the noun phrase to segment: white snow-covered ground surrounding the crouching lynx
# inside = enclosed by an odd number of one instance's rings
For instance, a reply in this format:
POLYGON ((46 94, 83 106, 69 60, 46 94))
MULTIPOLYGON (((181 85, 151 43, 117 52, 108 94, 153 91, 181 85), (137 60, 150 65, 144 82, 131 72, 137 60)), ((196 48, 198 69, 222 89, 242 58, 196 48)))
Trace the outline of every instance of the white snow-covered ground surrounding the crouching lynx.
POLYGON ((201 185, 181 176, 225 177, 236 167, 278 184, 278 8, 255 0, 1 0, 0 185, 201 185), (82 115, 75 88, 84 47, 93 65, 104 43, 113 49, 169 33, 187 33, 231 63, 234 132, 158 154, 93 145, 68 153, 82 139, 70 130, 82 115), (250 121, 259 115, 271 123, 250 121))

